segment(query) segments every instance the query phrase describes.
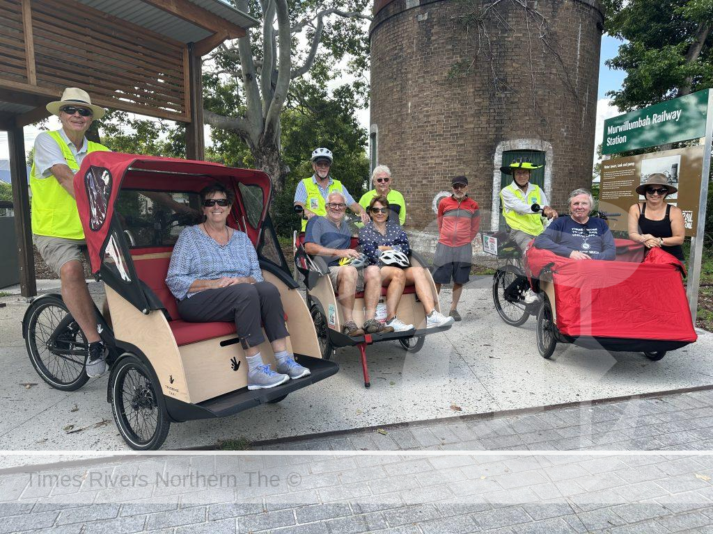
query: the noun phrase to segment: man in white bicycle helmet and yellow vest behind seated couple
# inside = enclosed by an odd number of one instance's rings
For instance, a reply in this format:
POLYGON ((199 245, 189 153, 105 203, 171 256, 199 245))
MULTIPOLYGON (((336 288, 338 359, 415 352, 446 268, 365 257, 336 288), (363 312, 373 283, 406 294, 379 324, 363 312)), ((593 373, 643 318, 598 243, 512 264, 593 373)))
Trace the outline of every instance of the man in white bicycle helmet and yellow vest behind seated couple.
POLYGON ((369 216, 363 207, 359 206, 342 182, 332 178, 329 169, 332 168, 332 151, 328 148, 319 147, 312 152, 312 177, 305 178, 297 184, 294 192, 294 206, 301 206, 303 211, 302 231, 307 228, 307 221, 315 215, 327 215, 324 205, 330 193, 339 192, 344 196, 344 201, 349 209, 361 217, 361 222, 369 222, 369 216))

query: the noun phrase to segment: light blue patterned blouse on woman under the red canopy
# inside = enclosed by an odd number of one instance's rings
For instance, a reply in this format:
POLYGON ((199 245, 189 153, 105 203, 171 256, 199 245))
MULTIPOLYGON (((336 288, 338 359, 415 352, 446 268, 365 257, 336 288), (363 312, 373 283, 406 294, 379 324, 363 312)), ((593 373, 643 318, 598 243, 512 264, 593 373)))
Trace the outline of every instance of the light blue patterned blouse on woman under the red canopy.
POLYGON ((183 300, 195 293, 188 288, 196 280, 215 280, 223 276, 252 276, 262 282, 262 271, 255 247, 241 231, 233 231, 225 246, 208 237, 198 225, 188 226, 178 236, 166 274, 166 286, 183 300))

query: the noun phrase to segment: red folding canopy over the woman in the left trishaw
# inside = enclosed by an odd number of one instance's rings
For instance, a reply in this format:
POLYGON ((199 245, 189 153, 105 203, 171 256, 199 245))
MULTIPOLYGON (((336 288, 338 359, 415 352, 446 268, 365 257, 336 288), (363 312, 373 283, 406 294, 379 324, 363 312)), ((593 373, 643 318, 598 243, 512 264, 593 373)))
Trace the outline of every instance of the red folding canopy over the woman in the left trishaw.
MULTIPOLYGON (((103 248, 108 248, 109 226, 121 187, 158 192, 199 192, 212 182, 221 182, 232 188, 236 198, 233 216, 245 214, 237 184, 259 186, 263 192, 262 224, 272 192, 272 182, 265 172, 235 169, 219 163, 120 152, 92 152, 84 158, 74 176, 74 192, 92 273, 99 271, 103 248)), ((257 244, 260 234, 260 224, 257 228, 248 225, 246 229, 254 244, 257 244)))

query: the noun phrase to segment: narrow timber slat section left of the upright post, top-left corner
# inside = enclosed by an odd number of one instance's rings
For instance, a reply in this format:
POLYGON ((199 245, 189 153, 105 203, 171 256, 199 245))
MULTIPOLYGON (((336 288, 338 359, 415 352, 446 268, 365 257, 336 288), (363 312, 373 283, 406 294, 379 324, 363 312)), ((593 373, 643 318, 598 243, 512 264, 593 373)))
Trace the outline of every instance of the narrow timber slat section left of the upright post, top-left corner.
POLYGON ((22 5, 19 0, 0 0, 0 72, 7 80, 27 83, 22 5))

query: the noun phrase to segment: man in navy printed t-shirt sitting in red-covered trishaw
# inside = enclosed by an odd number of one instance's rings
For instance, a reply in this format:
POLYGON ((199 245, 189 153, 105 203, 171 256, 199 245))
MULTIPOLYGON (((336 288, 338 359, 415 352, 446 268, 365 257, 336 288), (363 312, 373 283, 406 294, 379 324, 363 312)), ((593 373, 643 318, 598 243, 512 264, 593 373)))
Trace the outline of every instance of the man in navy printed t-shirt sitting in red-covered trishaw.
POLYGON ((535 238, 535 247, 575 260, 613 260, 616 246, 609 226, 592 218, 592 194, 586 189, 570 193, 570 216, 555 219, 535 238))

